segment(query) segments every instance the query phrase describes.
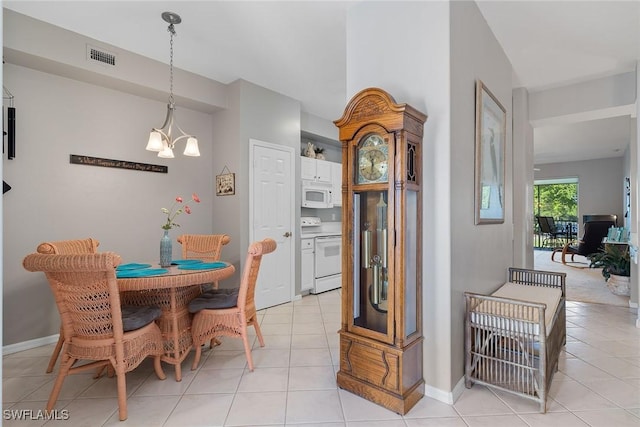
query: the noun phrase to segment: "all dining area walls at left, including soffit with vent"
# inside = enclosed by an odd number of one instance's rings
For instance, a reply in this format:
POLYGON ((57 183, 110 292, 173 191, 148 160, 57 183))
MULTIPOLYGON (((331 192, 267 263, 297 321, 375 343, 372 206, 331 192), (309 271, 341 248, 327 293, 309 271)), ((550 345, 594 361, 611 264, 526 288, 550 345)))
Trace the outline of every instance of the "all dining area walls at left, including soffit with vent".
MULTIPOLYGON (((222 86, 175 69, 176 118, 198 136, 202 156, 184 157, 179 143, 175 159, 160 159, 144 147, 150 128, 166 114, 166 64, 109 46, 121 62, 135 66, 107 70, 85 61, 86 43, 103 46, 98 41, 10 11, 3 22, 3 84, 15 96, 18 145, 16 159, 3 159, 3 178, 13 187, 3 197, 3 344, 58 333, 44 277, 22 268, 39 243, 94 237, 100 250, 118 252, 124 261, 155 261, 160 208, 177 195, 188 199, 196 192, 202 203, 179 218, 182 227, 172 237, 230 234, 223 254, 237 269, 228 281, 236 281, 249 238, 249 139, 297 151, 300 103, 248 82, 222 86), (69 163, 69 154, 167 165, 169 173, 80 166, 69 163), (234 196, 215 195, 215 176, 225 166, 236 174, 234 196)), ((321 119, 308 118, 323 127, 321 119)), ((297 176, 298 162, 293 171, 297 176)), ((294 203, 300 204, 299 191, 294 203)), ((179 253, 174 243, 174 256, 179 253)))

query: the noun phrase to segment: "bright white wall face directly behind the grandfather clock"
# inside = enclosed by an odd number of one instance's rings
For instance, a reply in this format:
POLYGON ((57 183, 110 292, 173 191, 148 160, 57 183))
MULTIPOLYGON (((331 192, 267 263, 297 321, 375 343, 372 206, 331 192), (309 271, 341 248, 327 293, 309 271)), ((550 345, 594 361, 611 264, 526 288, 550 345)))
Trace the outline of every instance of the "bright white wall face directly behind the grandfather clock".
POLYGON ((423 369, 426 393, 442 400, 451 390, 449 53, 445 2, 362 2, 349 10, 347 96, 379 87, 429 116, 422 154, 423 369))

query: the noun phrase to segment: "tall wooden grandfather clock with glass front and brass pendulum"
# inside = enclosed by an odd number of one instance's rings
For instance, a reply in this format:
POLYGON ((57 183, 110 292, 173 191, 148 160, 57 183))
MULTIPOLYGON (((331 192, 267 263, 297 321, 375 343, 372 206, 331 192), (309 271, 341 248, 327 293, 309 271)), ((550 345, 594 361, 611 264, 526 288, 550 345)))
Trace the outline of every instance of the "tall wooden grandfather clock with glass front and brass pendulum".
POLYGON ((422 133, 427 116, 385 91, 355 95, 342 142, 338 386, 399 414, 422 378, 422 133))

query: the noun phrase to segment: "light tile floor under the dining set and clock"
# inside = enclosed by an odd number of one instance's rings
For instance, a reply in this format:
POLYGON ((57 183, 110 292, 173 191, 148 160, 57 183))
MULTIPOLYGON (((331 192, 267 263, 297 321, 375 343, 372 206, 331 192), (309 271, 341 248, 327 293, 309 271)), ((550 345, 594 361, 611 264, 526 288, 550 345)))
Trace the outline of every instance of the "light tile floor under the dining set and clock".
MULTIPOLYGON (((70 377, 58 409, 64 426, 640 426, 640 329, 635 309, 567 304, 567 345, 555 374, 548 412, 532 402, 475 385, 453 404, 425 397, 405 416, 336 386, 340 291, 310 295, 260 313, 267 343, 253 349, 249 372, 240 340, 203 352, 183 380, 158 380, 145 362, 127 375, 129 418, 118 421, 113 378, 70 377)), ((53 346, 3 358, 6 410, 44 408, 54 374, 45 374, 53 346)), ((5 426, 45 421, 3 420, 5 426)))

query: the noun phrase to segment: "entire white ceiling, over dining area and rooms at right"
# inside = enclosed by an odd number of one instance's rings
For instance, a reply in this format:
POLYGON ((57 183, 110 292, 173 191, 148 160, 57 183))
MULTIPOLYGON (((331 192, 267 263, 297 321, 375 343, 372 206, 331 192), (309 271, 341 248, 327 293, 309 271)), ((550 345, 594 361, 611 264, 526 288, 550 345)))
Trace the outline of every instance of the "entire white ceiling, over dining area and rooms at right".
MULTIPOLYGON (((360 1, 4 1, 3 7, 222 83, 242 78, 334 120, 346 98, 346 13, 360 1)), ((429 0, 424 0, 429 1, 429 0)), ((398 6, 401 7, 401 6, 398 6)), ((478 7, 530 92, 635 69, 640 0, 489 1, 478 7)), ((617 157, 629 116, 534 130, 537 163, 617 157), (580 157, 578 157, 580 156, 580 157)))

